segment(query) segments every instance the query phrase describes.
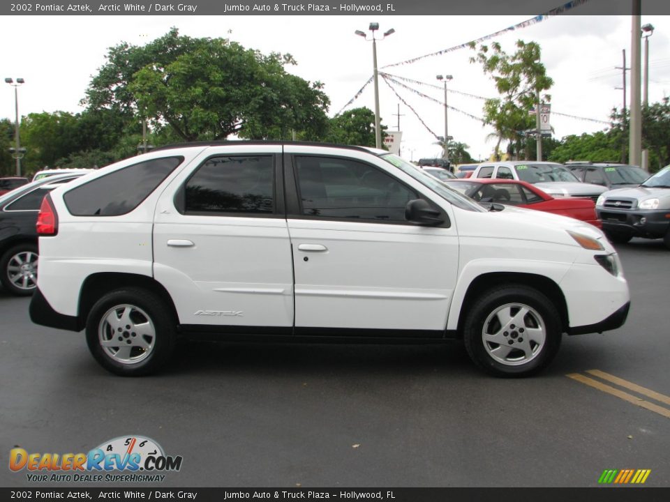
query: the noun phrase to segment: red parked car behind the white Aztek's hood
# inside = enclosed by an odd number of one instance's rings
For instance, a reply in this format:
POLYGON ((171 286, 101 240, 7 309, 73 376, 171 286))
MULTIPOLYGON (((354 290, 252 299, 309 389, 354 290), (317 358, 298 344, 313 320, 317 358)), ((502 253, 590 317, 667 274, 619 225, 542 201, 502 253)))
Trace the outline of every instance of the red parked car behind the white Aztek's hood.
POLYGON ((468 178, 442 181, 477 202, 497 202, 507 206, 536 209, 582 220, 602 229, 595 213, 595 202, 579 197, 554 198, 526 181, 468 178))

